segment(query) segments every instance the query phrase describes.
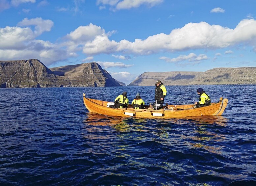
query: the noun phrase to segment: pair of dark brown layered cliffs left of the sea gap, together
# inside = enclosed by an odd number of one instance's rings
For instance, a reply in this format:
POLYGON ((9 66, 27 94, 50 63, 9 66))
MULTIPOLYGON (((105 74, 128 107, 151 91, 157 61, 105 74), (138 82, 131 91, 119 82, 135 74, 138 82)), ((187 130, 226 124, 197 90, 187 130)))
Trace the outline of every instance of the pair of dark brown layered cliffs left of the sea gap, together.
POLYGON ((97 63, 47 68, 37 59, 0 61, 1 88, 122 86, 97 63))

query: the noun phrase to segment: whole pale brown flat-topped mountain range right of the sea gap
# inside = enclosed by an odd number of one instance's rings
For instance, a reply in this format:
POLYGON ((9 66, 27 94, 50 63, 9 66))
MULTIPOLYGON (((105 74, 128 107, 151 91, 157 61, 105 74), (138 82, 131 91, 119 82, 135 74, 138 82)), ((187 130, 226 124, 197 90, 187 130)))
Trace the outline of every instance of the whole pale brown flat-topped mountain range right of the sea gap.
POLYGON ((256 84, 256 67, 213 68, 205 72, 145 72, 128 86, 256 84))

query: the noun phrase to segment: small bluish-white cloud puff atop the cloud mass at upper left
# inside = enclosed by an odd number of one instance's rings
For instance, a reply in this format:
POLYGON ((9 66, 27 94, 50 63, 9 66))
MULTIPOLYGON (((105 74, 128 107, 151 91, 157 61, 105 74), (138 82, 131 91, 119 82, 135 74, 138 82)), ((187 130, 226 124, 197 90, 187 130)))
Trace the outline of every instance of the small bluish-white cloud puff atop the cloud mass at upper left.
POLYGON ((30 26, 30 25, 36 25, 35 26, 35 35, 39 36, 45 31, 50 31, 51 27, 53 26, 53 22, 49 19, 42 19, 41 17, 28 19, 24 18, 22 21, 20 21, 17 26, 30 26))

